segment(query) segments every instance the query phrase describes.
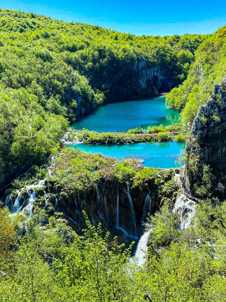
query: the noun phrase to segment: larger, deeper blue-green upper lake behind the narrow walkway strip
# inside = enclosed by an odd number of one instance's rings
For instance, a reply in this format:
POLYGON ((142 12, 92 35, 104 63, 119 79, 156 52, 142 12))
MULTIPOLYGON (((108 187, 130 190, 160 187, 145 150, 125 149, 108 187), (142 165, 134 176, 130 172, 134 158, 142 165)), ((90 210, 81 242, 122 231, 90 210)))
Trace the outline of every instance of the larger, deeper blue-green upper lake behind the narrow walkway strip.
POLYGON ((71 127, 97 132, 117 132, 141 126, 164 126, 179 123, 180 111, 165 105, 165 96, 123 100, 99 106, 87 114, 77 117, 71 127))

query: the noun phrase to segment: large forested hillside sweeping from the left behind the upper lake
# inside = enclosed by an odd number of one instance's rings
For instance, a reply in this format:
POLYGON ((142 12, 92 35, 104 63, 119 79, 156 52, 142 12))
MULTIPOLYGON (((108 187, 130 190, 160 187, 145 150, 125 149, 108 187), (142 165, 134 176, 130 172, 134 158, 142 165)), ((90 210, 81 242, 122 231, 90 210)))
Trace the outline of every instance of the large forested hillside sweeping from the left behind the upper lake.
POLYGON ((139 37, 1 9, 1 186, 57 152, 77 113, 180 84, 206 37, 139 37))

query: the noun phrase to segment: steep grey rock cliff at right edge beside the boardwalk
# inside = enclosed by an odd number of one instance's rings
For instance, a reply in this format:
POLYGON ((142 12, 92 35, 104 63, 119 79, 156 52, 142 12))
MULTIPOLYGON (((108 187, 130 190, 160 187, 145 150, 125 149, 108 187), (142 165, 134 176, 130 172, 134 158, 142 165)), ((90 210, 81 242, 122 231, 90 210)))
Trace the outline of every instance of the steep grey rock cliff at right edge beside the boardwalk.
POLYGON ((214 175, 212 191, 219 196, 219 183, 226 183, 226 76, 221 86, 214 86, 206 105, 199 108, 192 133, 193 138, 186 143, 187 187, 196 195, 195 188, 203 184, 203 167, 209 165, 214 175))

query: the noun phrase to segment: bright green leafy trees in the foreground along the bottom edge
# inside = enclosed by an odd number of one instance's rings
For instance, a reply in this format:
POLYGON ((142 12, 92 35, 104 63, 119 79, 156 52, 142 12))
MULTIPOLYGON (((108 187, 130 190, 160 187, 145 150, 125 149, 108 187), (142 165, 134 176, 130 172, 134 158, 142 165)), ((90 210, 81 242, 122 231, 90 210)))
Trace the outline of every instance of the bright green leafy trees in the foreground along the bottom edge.
MULTIPOLYGON (((165 215, 163 212, 161 215, 165 215)), ((0 215, 2 213, 4 210, 1 209, 0 215)), ((201 214, 205 215, 202 208, 199 211, 201 214)), ((170 212, 168 215, 170 217, 170 212)), ((140 267, 129 258, 131 247, 123 251, 123 245, 118 245, 116 237, 108 250, 106 240, 109 233, 102 238, 101 226, 92 226, 87 217, 86 222, 84 236, 75 234, 73 243, 61 241, 58 255, 54 252, 46 255, 46 248, 61 240, 60 235, 54 235, 56 231, 50 223, 42 230, 36 221, 32 228, 33 235, 27 233, 27 240, 14 237, 19 245, 17 249, 11 249, 11 267, 2 263, 1 252, 1 301, 135 302, 146 300, 145 296, 152 301, 225 301, 222 259, 213 260, 205 245, 194 247, 173 240, 161 256, 150 249, 148 268, 140 267), (47 243, 44 240, 49 235, 52 240, 47 243), (52 257, 50 265, 47 256, 52 257)), ((10 226, 8 217, 0 229, 0 238, 10 226)), ((185 240, 186 233, 181 233, 180 237, 183 236, 185 240)), ((7 245, 4 248, 9 250, 7 245)))

